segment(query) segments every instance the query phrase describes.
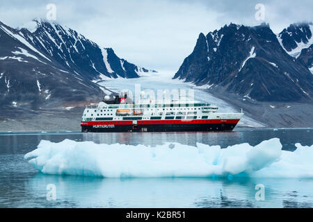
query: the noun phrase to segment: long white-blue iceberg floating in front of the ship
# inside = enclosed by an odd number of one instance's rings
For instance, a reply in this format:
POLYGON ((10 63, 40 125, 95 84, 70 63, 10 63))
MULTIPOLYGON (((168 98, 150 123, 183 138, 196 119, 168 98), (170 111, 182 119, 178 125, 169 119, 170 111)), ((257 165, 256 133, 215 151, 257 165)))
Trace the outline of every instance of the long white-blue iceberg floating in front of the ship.
POLYGON ((155 147, 42 140, 24 159, 41 173, 104 178, 313 178, 313 145, 282 151, 280 139, 227 148, 166 143, 155 147))

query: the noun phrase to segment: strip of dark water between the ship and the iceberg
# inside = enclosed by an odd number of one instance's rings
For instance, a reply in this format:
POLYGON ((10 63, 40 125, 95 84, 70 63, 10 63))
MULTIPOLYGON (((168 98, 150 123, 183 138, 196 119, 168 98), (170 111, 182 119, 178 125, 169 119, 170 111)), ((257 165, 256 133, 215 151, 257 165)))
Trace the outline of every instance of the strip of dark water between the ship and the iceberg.
POLYGON ((222 148, 234 144, 248 143, 252 146, 266 139, 277 137, 284 150, 294 151, 294 144, 303 146, 313 144, 312 130, 241 130, 230 133, 39 133, 39 134, 3 134, 0 133, 0 155, 5 153, 22 154, 35 149, 40 140, 61 142, 64 139, 74 141, 93 141, 97 144, 143 144, 156 146, 166 142, 177 142, 195 146, 196 143, 210 146, 220 145, 222 148))

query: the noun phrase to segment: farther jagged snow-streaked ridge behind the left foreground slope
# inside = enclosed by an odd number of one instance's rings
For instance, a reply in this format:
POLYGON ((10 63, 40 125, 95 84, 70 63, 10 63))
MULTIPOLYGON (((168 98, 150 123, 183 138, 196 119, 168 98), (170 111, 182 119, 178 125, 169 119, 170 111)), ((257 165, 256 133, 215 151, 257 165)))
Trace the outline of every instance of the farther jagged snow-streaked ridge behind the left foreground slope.
POLYGON ((138 78, 140 72, 148 71, 118 58, 113 49, 102 48, 71 28, 55 22, 35 19, 32 26, 28 24, 26 28, 20 28, 19 33, 65 69, 89 80, 138 78))

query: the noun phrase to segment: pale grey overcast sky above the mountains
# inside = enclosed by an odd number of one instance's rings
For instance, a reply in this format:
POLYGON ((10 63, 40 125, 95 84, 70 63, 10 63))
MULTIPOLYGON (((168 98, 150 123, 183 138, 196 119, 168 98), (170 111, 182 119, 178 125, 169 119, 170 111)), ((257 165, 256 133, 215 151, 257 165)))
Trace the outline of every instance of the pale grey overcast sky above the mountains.
POLYGON ((265 6, 265 21, 275 33, 294 22, 313 21, 312 0, 63 0, 1 1, 0 21, 16 28, 45 18, 56 5, 56 22, 111 47, 120 58, 141 67, 177 71, 200 32, 225 24, 254 26, 255 6, 265 6))

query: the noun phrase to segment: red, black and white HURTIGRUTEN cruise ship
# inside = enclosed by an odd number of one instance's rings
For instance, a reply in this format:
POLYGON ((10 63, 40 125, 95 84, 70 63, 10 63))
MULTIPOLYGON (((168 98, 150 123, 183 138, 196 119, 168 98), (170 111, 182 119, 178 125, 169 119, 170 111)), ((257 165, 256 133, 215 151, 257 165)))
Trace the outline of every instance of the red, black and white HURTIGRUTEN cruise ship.
POLYGON ((218 112, 216 105, 193 101, 149 99, 135 104, 127 94, 106 96, 99 104, 87 105, 81 132, 193 132, 232 131, 243 112, 218 112))

